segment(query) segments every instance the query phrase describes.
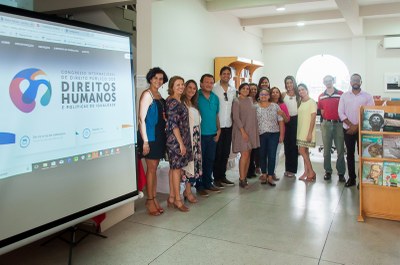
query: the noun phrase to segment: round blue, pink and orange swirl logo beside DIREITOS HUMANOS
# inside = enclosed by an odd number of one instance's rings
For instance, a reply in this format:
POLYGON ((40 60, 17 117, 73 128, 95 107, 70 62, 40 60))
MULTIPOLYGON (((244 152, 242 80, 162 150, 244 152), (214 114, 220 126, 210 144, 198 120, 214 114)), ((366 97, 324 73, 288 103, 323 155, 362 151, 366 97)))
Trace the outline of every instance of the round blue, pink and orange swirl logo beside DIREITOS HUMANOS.
POLYGON ((29 68, 16 74, 10 84, 10 98, 14 105, 22 112, 29 113, 35 109, 36 97, 41 85, 46 87, 46 92, 40 99, 42 106, 47 106, 51 98, 51 84, 48 80, 38 79, 38 76, 45 76, 46 73, 37 68, 29 68), (28 88, 21 91, 21 83, 27 80, 28 88))

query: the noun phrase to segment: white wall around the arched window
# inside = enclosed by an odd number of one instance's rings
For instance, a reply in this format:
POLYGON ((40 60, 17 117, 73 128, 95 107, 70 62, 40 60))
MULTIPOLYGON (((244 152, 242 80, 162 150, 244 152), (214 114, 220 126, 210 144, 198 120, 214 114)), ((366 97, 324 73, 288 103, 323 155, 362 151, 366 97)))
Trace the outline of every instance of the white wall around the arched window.
POLYGON ((400 72, 400 50, 385 50, 382 37, 342 39, 284 44, 264 44, 264 73, 271 84, 284 89, 286 75, 296 76, 300 65, 314 55, 329 54, 341 59, 350 73, 360 73, 362 88, 373 95, 400 97, 384 91, 384 73, 400 72))

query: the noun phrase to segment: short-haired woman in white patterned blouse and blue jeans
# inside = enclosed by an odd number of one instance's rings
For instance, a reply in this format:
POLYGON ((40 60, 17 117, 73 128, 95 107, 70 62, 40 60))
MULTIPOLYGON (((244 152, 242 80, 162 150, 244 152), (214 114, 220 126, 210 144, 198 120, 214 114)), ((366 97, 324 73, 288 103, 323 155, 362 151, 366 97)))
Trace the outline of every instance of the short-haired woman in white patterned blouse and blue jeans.
POLYGON ((278 114, 278 104, 270 102, 269 90, 259 91, 257 120, 260 134, 261 184, 276 186, 274 182, 276 149, 284 138, 284 122, 278 114), (267 170, 268 165, 268 170, 267 170))

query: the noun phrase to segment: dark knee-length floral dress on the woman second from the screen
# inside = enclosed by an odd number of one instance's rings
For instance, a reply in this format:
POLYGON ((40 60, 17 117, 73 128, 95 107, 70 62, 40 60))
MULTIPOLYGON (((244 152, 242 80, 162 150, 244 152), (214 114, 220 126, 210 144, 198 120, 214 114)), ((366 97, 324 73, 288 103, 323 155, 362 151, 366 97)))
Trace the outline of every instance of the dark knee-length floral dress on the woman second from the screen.
POLYGON ((167 106, 167 151, 169 166, 172 169, 179 169, 187 166, 192 157, 192 142, 190 140, 189 114, 186 106, 169 97, 166 100, 167 106), (186 154, 181 155, 179 142, 176 139, 173 130, 179 128, 183 144, 186 147, 186 154))

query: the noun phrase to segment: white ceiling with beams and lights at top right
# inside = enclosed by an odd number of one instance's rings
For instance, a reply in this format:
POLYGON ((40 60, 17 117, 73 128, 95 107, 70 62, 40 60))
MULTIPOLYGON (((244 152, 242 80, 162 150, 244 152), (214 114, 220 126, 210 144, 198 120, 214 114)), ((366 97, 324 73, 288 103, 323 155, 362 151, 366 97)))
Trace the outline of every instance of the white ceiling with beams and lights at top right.
POLYGON ((226 12, 246 28, 266 33, 290 29, 298 23, 311 31, 321 25, 352 36, 400 34, 399 0, 205 0, 210 12, 226 12), (285 7, 277 11, 277 7, 285 7), (396 27, 394 27, 394 25, 396 27), (388 29, 388 26, 390 29, 388 29), (381 28, 379 28, 381 27, 381 28))

